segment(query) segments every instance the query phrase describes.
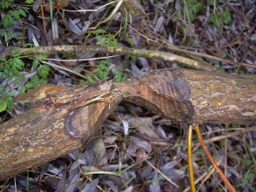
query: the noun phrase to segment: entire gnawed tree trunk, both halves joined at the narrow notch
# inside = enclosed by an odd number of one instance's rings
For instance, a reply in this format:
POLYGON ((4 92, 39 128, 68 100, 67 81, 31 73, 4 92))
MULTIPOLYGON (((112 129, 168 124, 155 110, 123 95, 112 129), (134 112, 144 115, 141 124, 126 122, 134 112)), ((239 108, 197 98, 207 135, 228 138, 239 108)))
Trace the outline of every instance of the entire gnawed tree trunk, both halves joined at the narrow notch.
POLYGON ((159 69, 121 83, 41 85, 14 97, 33 109, 0 125, 0 180, 81 149, 123 99, 173 121, 256 124, 256 76, 159 69))

